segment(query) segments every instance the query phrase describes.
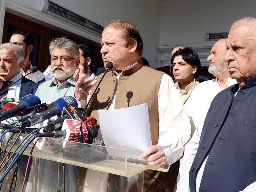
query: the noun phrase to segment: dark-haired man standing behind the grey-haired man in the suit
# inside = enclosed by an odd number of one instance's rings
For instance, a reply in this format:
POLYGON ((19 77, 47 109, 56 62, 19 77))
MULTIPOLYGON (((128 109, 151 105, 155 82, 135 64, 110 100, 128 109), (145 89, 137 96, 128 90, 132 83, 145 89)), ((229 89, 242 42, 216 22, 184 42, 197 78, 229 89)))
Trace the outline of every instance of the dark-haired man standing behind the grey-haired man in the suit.
MULTIPOLYGON (((20 69, 23 76, 28 74, 32 68, 31 62, 29 61, 29 55, 33 51, 33 42, 34 38, 28 31, 19 29, 12 32, 10 43, 20 45, 25 53, 24 66, 22 69, 20 69)), ((42 74, 42 72, 37 70, 35 73, 27 75, 26 78, 37 83, 37 76, 40 74, 42 74)))

